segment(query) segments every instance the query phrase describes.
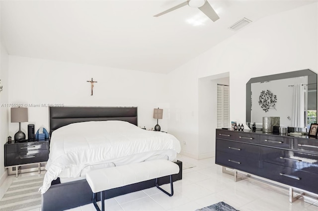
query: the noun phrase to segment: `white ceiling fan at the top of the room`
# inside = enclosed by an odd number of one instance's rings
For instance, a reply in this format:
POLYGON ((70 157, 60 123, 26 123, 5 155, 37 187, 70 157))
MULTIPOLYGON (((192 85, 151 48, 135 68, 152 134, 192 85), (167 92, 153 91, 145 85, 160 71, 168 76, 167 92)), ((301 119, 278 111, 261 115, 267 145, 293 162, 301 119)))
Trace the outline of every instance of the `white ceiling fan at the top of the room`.
POLYGON ((185 5, 189 5, 191 7, 199 8, 213 22, 215 22, 216 20, 218 20, 220 18, 207 0, 187 0, 187 1, 183 2, 183 3, 180 3, 180 4, 170 8, 170 9, 167 9, 167 10, 165 10, 163 12, 160 12, 157 15, 154 15, 154 17, 158 17, 158 16, 163 15, 165 13, 171 12, 171 11, 173 11, 175 9, 178 9, 178 8, 180 8, 182 6, 185 6, 185 5))

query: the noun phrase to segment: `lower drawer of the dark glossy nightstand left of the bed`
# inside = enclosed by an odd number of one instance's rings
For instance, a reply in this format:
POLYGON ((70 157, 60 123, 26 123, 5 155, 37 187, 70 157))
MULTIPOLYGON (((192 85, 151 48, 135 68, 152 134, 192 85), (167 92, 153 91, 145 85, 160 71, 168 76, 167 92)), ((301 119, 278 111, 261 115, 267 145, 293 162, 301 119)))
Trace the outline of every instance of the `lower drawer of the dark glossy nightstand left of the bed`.
POLYGON ((49 156, 47 150, 7 153, 5 158, 5 166, 21 165, 34 162, 46 162, 48 158, 49 156))

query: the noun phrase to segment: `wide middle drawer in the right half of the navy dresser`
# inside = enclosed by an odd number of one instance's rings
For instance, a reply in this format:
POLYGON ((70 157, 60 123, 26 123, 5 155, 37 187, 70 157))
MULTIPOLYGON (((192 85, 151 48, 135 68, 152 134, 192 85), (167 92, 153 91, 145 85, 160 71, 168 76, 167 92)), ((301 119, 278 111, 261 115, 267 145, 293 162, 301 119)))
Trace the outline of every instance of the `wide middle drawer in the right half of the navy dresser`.
POLYGON ((318 174, 318 155, 269 147, 259 149, 259 159, 262 161, 318 174))

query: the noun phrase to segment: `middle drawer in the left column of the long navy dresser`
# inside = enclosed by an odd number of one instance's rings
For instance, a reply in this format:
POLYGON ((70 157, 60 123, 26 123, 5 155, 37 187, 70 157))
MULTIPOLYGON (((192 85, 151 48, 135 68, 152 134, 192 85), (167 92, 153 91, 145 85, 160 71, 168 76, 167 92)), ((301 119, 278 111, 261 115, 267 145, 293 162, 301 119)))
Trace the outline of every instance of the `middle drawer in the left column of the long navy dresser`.
POLYGON ((216 149, 229 154, 234 154, 238 156, 245 156, 248 158, 259 158, 259 146, 251 144, 243 144, 239 142, 226 141, 217 139, 216 140, 216 149))

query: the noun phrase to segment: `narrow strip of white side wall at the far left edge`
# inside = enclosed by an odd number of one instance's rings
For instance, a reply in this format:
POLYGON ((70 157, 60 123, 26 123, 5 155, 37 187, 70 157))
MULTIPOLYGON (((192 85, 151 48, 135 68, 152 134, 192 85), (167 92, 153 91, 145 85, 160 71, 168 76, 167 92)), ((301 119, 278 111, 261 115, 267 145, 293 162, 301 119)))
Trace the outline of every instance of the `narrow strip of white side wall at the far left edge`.
POLYGON ((4 168, 4 148, 8 134, 8 54, 0 42, 0 184, 6 178, 6 170, 4 168))

